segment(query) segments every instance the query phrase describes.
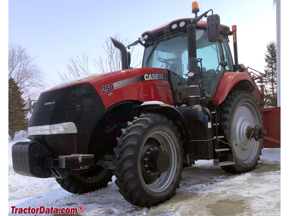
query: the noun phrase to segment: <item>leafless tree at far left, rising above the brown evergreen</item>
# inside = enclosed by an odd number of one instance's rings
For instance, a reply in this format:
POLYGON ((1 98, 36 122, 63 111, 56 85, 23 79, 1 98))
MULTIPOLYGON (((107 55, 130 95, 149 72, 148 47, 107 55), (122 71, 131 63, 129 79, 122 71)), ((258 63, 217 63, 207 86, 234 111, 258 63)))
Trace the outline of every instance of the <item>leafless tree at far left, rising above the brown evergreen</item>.
POLYGON ((43 81, 45 73, 35 59, 36 56, 31 57, 20 44, 9 44, 8 78, 15 80, 19 91, 23 91, 23 98, 37 99, 40 91, 47 86, 43 81))

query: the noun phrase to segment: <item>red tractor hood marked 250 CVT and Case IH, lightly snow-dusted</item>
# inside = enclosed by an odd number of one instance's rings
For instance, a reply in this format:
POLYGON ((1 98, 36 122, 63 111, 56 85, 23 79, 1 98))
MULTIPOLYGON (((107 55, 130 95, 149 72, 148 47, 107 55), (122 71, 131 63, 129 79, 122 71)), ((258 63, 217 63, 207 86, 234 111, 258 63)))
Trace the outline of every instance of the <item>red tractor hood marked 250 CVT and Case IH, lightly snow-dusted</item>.
MULTIPOLYGON (((48 92, 58 91, 59 89, 69 89, 69 92, 72 94, 73 91, 80 91, 77 90, 78 88, 76 88, 76 86, 83 83, 87 83, 95 89, 106 109, 113 104, 124 100, 151 101, 151 87, 155 85, 166 86, 165 88, 161 88, 161 91, 164 91, 164 95, 161 96, 164 97, 162 100, 166 101, 166 91, 170 89, 167 69, 144 67, 75 77, 72 80, 62 82, 59 85, 42 92, 40 97, 42 97, 42 95, 47 95, 48 92), (149 87, 144 88, 143 85, 149 85, 149 87), (73 86, 75 86, 75 90, 73 86)), ((79 94, 82 93, 79 92, 79 94)), ((56 101, 56 99, 57 98, 55 98, 55 100, 53 99, 53 101, 56 101)), ((52 98, 49 100, 52 100, 52 98)))

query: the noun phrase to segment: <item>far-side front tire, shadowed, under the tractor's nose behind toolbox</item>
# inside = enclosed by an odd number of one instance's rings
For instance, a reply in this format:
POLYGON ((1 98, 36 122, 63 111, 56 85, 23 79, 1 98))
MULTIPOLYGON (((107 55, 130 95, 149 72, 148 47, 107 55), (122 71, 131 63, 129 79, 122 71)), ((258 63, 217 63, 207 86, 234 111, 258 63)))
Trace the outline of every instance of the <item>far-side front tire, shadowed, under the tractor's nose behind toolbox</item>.
POLYGON ((112 176, 112 170, 98 165, 89 172, 69 175, 65 179, 55 180, 64 190, 81 194, 107 187, 107 183, 112 181, 112 176))

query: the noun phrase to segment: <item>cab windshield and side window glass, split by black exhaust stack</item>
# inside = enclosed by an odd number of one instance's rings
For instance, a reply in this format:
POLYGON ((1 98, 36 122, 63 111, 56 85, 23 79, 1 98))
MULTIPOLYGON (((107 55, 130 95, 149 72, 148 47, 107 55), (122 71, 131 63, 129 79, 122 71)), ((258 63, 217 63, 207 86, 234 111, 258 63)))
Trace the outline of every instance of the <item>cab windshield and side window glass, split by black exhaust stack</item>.
MULTIPOLYGON (((199 70, 200 87, 205 90, 202 92, 210 93, 214 96, 219 79, 224 72, 224 67, 221 67, 220 62, 224 61, 222 44, 217 42, 209 42, 207 31, 196 30, 197 40, 197 58, 202 58, 202 75, 199 70)), ((144 51, 144 59, 142 67, 158 67, 166 68, 171 71, 170 79, 172 87, 176 89, 177 95, 174 95, 177 101, 185 100, 185 90, 188 77, 188 48, 187 34, 178 32, 175 34, 166 35, 157 41, 154 41, 151 46, 146 47, 144 51), (180 95, 180 96, 179 96, 180 95)))

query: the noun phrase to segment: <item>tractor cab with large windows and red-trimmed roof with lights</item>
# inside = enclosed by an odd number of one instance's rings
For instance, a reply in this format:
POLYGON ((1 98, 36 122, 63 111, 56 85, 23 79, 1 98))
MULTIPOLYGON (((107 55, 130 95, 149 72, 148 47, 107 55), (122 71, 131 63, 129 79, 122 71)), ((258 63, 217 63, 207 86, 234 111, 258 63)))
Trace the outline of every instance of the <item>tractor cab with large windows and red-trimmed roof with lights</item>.
MULTIPOLYGON (((142 34, 144 58, 142 67, 166 68, 175 103, 186 99, 188 86, 188 43, 186 26, 191 19, 178 19, 142 34), (145 38, 145 39, 144 39, 145 38)), ((219 80, 225 71, 233 71, 233 60, 228 45, 229 27, 221 25, 219 39, 209 42, 207 22, 196 25, 198 82, 201 95, 214 98, 219 80)))

